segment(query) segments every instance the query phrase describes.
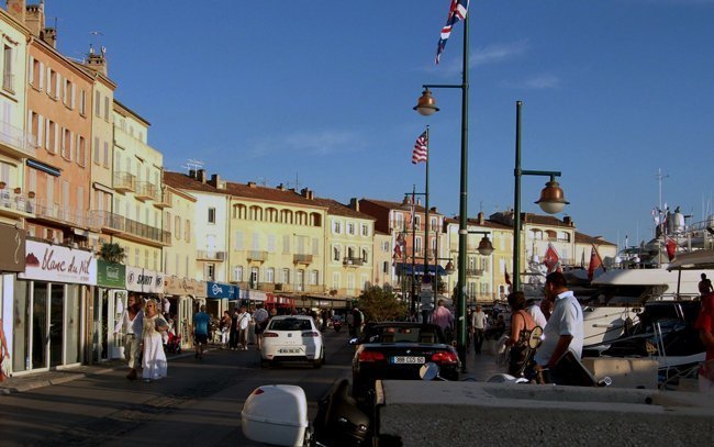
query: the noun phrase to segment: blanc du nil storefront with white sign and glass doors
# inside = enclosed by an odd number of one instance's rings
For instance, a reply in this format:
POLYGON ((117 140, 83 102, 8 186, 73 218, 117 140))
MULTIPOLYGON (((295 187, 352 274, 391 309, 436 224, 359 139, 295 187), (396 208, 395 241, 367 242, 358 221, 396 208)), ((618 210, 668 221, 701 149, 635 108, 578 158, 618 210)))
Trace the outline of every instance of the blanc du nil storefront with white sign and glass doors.
POLYGON ((83 360, 89 286, 97 283, 91 252, 25 243, 25 272, 14 288, 12 367, 36 372, 83 360))

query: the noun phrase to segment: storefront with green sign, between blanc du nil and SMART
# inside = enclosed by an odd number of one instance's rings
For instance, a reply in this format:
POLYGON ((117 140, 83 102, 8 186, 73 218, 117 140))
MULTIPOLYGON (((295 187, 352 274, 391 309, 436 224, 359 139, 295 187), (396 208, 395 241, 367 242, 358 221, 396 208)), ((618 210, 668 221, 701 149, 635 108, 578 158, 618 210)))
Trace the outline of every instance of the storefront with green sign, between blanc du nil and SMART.
POLYGON ((126 267, 98 259, 90 328, 92 361, 124 356, 123 340, 114 336, 114 326, 124 312, 126 293, 126 267))

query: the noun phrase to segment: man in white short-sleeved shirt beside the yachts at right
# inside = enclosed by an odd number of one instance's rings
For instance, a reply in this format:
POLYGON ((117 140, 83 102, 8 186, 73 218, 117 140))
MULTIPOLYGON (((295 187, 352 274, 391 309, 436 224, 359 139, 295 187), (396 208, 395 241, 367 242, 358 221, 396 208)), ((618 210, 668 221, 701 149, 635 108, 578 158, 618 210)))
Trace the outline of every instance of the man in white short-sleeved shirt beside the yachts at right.
POLYGON ((582 308, 568 290, 566 277, 555 271, 546 277, 545 303, 553 312, 544 329, 545 340, 535 355, 539 369, 551 369, 568 350, 580 358, 584 339, 582 308))

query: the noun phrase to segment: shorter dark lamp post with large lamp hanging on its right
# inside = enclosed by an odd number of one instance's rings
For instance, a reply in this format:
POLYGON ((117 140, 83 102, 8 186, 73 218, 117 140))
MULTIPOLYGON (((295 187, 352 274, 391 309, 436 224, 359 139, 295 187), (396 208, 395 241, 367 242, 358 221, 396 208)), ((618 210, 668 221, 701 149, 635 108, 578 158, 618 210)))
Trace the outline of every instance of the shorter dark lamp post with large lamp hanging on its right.
POLYGON ((540 199, 537 203, 543 211, 548 214, 556 214, 570 202, 565 199, 560 185, 556 177, 560 177, 559 171, 548 170, 525 170, 521 169, 521 107, 523 101, 515 102, 515 188, 513 198, 513 291, 521 290, 521 177, 522 176, 543 176, 550 177, 550 181, 540 191, 540 199))

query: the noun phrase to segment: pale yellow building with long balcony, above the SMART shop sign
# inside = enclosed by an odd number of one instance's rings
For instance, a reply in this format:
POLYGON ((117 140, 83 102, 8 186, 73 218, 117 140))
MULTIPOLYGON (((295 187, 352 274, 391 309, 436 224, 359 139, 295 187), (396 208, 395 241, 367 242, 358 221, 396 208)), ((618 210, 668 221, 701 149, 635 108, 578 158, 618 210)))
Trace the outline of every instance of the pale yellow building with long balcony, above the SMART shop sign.
POLYGON ((161 212, 169 203, 161 193, 164 156, 147 144, 150 124, 114 100, 113 215, 104 230, 115 231, 131 267, 160 271, 161 248, 171 244, 161 212))

